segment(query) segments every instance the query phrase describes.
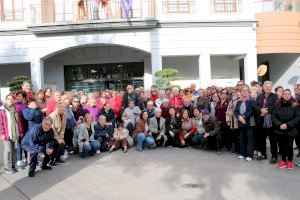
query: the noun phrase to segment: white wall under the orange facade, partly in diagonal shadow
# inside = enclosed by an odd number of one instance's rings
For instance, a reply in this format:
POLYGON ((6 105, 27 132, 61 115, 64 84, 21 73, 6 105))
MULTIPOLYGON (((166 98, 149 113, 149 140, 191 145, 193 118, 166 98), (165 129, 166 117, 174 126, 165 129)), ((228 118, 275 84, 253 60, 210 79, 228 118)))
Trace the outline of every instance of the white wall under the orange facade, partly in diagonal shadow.
POLYGON ((258 55, 258 65, 266 61, 274 88, 281 85, 293 91, 293 85, 300 83, 300 54, 258 55))

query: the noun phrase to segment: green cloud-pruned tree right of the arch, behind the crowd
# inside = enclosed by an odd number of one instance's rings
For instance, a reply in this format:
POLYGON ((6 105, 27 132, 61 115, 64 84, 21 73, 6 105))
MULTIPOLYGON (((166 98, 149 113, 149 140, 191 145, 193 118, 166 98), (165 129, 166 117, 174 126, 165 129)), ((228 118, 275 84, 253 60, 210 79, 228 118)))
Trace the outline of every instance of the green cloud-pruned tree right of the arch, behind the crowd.
POLYGON ((159 89, 165 89, 166 87, 172 87, 171 82, 179 79, 179 72, 177 69, 166 68, 155 73, 155 76, 159 78, 156 81, 156 85, 159 89))

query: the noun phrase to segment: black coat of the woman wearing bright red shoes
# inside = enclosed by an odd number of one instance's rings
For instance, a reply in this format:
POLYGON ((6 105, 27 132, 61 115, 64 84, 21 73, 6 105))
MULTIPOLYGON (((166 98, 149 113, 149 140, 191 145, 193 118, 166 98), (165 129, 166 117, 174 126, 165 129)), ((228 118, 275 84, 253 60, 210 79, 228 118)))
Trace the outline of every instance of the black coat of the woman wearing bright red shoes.
POLYGON ((297 126, 300 122, 299 106, 291 102, 281 102, 274 109, 272 121, 275 133, 296 136, 298 134, 297 126), (281 130, 281 124, 287 124, 287 129, 281 130))

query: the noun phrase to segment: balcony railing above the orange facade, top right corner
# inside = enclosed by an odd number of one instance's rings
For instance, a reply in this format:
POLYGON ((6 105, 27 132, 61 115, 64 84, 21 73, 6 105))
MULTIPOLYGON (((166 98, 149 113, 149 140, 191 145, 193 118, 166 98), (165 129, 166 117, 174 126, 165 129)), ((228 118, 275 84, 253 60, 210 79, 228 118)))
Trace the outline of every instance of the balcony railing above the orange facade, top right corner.
POLYGON ((300 12, 300 0, 258 0, 257 12, 300 12))

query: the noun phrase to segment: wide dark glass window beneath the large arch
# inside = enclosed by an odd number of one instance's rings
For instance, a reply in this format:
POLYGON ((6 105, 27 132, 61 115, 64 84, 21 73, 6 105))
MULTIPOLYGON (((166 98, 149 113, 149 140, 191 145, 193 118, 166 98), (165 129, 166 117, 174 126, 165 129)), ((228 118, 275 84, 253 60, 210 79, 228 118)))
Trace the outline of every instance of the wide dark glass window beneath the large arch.
POLYGON ((65 89, 94 92, 124 90, 128 84, 142 86, 144 63, 109 63, 65 66, 65 89))

